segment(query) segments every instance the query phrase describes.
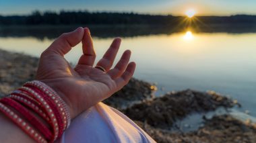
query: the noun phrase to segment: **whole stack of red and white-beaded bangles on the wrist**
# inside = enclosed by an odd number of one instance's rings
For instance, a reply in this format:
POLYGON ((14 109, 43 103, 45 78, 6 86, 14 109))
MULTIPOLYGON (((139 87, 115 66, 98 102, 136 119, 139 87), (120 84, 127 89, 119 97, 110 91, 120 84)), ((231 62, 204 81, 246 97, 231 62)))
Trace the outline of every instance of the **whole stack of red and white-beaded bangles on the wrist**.
POLYGON ((0 111, 36 142, 54 142, 71 120, 65 102, 40 81, 25 83, 0 99, 0 111))

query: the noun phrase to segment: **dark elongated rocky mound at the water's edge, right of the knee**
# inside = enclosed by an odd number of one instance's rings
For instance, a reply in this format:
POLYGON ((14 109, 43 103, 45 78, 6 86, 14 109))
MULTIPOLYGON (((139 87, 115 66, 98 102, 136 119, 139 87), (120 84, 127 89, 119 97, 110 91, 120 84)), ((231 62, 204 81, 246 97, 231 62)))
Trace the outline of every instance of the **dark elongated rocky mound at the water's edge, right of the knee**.
POLYGON ((168 129, 177 120, 193 112, 213 111, 217 107, 233 107, 232 99, 217 93, 186 90, 168 93, 151 101, 144 101, 122 110, 128 117, 147 122, 156 128, 168 129))

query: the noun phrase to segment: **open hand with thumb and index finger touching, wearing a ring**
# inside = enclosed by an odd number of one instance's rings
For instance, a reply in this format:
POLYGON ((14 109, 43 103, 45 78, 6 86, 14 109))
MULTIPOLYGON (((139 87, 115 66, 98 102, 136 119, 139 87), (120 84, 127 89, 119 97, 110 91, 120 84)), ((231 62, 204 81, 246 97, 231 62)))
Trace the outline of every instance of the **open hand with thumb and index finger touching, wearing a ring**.
POLYGON ((52 87, 67 103, 71 118, 119 91, 131 79, 135 62, 129 62, 131 51, 126 50, 117 65, 110 69, 119 50, 121 38, 115 38, 103 58, 94 68, 96 54, 88 28, 62 34, 40 57, 36 79, 52 87), (64 55, 82 41, 83 54, 75 68, 64 55), (128 64, 129 63, 129 64, 128 64))

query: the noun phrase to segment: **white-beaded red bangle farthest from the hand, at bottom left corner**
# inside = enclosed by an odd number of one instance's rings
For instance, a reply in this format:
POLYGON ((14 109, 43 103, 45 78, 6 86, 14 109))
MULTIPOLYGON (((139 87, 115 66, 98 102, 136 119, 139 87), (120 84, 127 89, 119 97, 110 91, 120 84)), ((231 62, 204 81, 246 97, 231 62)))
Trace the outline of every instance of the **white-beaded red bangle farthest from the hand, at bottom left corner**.
POLYGON ((29 124, 27 124, 22 118, 15 114, 11 109, 0 103, 0 111, 2 111, 12 122, 14 122, 17 126, 19 126, 26 134, 28 134, 31 138, 36 140, 36 142, 47 143, 36 130, 34 130, 29 124))

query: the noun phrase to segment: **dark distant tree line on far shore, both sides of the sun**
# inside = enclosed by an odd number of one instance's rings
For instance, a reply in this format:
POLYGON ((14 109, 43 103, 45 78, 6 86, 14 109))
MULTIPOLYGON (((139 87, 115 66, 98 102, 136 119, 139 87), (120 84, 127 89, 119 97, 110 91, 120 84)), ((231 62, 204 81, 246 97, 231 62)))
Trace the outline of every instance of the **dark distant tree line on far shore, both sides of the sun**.
MULTIPOLYGON (((195 23, 256 23, 255 15, 200 16, 195 23), (198 22, 200 21, 200 22, 198 22)), ((0 25, 148 24, 177 25, 187 17, 89 11, 34 11, 29 15, 0 15, 0 25)))

